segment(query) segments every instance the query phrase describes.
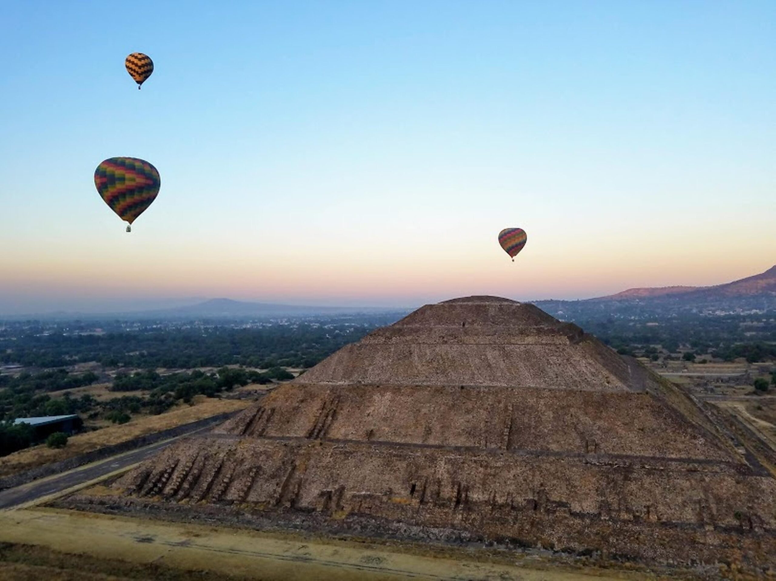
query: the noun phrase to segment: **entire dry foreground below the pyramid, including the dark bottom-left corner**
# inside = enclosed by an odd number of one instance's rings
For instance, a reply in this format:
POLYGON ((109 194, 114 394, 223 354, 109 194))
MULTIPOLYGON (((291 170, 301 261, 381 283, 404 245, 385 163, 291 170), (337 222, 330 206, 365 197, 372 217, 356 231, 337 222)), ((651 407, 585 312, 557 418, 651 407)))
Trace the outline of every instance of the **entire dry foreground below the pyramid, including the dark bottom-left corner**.
MULTIPOLYGON (((549 555, 497 553, 481 546, 323 539, 56 509, 0 514, 0 541, 9 543, 0 545, 2 579, 667 578, 667 571, 657 574, 628 563, 611 569, 604 563, 571 565, 549 555)), ((695 578, 687 571, 673 573, 695 578)))

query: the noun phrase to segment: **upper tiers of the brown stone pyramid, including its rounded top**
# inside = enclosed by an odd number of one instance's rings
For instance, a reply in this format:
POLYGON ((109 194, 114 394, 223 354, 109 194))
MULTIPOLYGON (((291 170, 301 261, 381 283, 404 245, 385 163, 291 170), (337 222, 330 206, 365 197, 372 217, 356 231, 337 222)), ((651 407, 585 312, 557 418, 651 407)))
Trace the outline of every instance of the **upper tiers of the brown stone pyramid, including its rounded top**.
POLYGON ((427 304, 345 346, 300 383, 643 390, 646 373, 532 304, 465 297, 427 304))

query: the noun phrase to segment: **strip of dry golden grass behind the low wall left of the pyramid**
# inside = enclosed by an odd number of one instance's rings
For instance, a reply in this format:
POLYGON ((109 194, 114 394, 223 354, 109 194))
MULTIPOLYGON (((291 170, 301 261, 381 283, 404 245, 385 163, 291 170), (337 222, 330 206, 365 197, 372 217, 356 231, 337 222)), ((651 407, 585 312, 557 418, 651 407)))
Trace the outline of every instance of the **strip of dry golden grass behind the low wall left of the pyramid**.
POLYGON ((213 415, 241 410, 252 402, 197 396, 193 403, 194 405, 191 406, 181 405, 165 414, 137 416, 126 424, 110 425, 109 428, 71 436, 68 445, 62 449, 51 449, 41 444, 3 456, 0 458, 0 476, 23 472, 49 462, 59 462, 107 445, 120 444, 156 431, 210 418, 213 415))

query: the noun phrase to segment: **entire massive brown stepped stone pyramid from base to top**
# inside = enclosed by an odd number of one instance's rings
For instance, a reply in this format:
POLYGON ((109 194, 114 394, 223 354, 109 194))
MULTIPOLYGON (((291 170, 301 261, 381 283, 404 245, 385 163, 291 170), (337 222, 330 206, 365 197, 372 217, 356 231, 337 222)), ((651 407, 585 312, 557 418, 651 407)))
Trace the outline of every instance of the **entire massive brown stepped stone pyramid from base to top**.
POLYGON ((776 566, 773 455, 710 407, 531 304, 426 305, 111 504, 257 528, 492 541, 643 562, 776 566))

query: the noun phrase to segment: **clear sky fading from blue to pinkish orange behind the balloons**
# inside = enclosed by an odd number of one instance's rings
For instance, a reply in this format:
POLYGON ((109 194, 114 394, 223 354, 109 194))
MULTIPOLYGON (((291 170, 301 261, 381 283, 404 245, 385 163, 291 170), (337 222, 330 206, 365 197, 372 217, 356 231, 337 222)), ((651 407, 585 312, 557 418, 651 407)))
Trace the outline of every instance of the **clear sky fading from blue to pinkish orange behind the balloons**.
POLYGON ((586 297, 776 262, 772 0, 6 0, 0 52, 0 313, 586 297), (131 234, 93 184, 111 156, 161 174, 131 234))

